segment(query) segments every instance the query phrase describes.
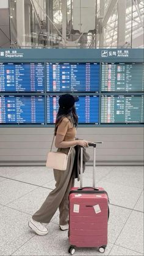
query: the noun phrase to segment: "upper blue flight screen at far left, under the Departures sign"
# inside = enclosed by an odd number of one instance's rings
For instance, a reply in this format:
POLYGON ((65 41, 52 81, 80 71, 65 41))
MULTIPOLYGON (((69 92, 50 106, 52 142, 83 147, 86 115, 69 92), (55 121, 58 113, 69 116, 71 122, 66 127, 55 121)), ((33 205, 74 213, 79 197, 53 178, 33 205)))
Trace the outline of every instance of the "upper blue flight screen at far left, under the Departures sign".
POLYGON ((0 92, 44 92, 43 63, 0 63, 0 92))

